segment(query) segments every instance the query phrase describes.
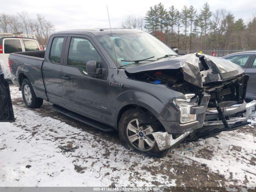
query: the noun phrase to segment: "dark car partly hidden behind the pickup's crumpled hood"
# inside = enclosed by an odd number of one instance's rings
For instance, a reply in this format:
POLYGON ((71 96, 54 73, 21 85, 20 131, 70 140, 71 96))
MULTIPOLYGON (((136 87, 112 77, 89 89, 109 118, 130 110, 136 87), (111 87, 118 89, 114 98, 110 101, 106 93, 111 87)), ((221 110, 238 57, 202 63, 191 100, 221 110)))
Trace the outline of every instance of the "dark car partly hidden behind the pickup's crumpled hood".
POLYGON ((226 55, 223 58, 240 65, 245 73, 250 75, 246 98, 256 99, 256 51, 233 53, 226 55))

